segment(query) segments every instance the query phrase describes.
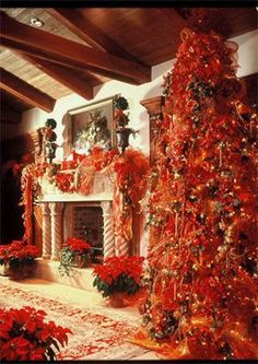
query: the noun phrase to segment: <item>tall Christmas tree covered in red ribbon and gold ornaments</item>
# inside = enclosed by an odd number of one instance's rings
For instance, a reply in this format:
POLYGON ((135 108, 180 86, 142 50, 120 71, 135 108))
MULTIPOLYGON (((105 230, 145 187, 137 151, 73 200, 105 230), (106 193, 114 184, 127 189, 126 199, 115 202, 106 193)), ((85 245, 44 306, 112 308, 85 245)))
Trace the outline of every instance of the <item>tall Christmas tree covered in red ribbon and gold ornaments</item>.
POLYGON ((150 198, 149 294, 136 341, 171 359, 255 359, 257 115, 236 45, 181 32, 165 78, 150 198))

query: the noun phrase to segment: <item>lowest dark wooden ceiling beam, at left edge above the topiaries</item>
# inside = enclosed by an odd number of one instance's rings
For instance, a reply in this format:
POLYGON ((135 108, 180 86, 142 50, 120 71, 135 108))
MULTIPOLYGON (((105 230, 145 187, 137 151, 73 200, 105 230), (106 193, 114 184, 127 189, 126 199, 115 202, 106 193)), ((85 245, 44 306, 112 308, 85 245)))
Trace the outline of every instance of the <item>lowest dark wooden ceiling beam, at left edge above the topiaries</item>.
POLYGON ((0 68, 0 73, 1 90, 7 91, 11 95, 32 106, 39 107, 47 113, 50 113, 54 109, 56 101, 52 97, 33 87, 31 84, 19 79, 3 68, 0 68))

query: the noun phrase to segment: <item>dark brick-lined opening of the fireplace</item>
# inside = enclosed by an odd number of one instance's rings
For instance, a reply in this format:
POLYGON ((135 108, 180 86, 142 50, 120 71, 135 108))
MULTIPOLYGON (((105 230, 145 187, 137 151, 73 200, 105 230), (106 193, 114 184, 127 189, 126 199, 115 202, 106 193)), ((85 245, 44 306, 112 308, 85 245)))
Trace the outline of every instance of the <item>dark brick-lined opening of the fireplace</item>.
POLYGON ((104 222, 101 207, 77 206, 72 214, 72 236, 86 240, 92 247, 92 263, 104 258, 104 222))

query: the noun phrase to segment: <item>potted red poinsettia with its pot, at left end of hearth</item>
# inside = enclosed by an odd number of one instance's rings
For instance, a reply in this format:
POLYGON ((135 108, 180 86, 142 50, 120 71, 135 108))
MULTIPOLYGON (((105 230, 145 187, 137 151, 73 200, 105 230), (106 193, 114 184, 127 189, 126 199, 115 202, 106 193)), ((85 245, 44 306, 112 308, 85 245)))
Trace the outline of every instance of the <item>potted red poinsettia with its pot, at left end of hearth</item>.
POLYGON ((13 240, 0 246, 0 265, 4 267, 4 275, 13 279, 32 277, 38 255, 38 248, 24 240, 13 240))

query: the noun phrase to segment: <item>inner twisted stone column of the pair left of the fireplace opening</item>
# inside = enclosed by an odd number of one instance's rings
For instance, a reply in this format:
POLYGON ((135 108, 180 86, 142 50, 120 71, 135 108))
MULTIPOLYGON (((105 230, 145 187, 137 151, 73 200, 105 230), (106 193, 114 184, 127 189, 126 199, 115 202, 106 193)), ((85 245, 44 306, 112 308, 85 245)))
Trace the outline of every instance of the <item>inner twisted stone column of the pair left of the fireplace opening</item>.
POLYGON ((62 209, 63 203, 49 203, 51 212, 51 260, 59 260, 59 253, 63 240, 62 209))

